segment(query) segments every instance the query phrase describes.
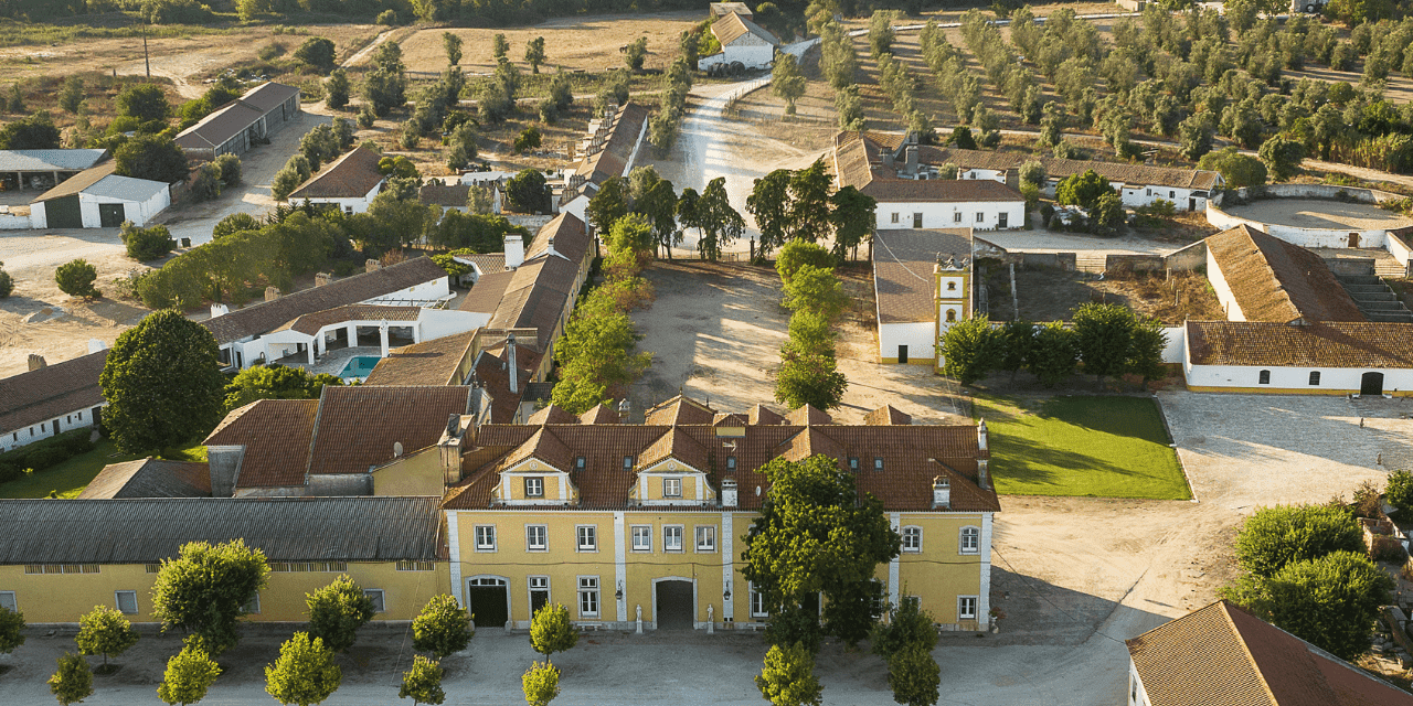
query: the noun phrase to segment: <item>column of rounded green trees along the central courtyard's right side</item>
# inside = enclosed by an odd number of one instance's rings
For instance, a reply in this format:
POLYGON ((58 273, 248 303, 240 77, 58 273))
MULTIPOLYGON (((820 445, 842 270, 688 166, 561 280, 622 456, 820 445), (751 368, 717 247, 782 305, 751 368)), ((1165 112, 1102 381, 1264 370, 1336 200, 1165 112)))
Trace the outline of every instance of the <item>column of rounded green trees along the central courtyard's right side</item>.
POLYGON ((790 337, 780 347, 776 401, 796 409, 839 407, 849 381, 838 370, 835 322, 849 305, 834 273, 835 257, 814 243, 791 241, 780 250, 776 271, 791 311, 790 337))

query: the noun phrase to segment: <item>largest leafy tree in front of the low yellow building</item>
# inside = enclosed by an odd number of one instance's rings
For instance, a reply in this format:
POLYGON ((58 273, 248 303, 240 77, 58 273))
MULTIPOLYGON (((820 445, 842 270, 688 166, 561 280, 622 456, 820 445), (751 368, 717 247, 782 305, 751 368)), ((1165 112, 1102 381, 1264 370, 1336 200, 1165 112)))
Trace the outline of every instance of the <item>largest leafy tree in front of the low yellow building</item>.
POLYGON ((164 559, 157 572, 153 617, 162 623, 162 630, 189 631, 188 644, 219 655, 239 641, 236 623, 268 578, 264 552, 247 548, 243 539, 216 545, 188 542, 178 558, 164 559))

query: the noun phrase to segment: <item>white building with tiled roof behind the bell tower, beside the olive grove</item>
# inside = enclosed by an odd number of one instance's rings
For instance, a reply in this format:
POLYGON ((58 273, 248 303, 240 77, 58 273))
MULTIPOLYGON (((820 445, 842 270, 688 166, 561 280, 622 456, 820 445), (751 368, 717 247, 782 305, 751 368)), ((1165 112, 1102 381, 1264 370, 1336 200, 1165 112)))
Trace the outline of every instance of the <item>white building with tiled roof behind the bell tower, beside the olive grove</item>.
POLYGON ((839 186, 873 196, 877 230, 1009 230, 1026 225, 1026 199, 995 181, 940 179, 937 165, 920 160, 920 145, 903 145, 899 161, 861 133, 835 136, 834 174, 839 186))

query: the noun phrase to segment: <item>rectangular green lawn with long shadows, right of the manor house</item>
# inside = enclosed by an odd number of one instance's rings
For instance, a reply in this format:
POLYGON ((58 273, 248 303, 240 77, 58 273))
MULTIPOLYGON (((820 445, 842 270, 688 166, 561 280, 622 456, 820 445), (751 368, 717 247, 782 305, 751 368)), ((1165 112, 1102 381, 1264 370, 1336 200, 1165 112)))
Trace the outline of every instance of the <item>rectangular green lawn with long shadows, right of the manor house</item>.
POLYGON ((974 404, 1003 496, 1193 497, 1152 398, 978 395, 974 404))

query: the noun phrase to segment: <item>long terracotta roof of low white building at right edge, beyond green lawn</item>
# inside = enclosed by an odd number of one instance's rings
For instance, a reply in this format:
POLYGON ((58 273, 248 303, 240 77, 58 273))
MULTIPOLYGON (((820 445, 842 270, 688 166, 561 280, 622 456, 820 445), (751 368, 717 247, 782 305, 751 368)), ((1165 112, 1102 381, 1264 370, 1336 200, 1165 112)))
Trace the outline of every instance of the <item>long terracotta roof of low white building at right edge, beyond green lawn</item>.
POLYGON ((1413 367, 1413 323, 1190 321, 1197 366, 1413 367))

